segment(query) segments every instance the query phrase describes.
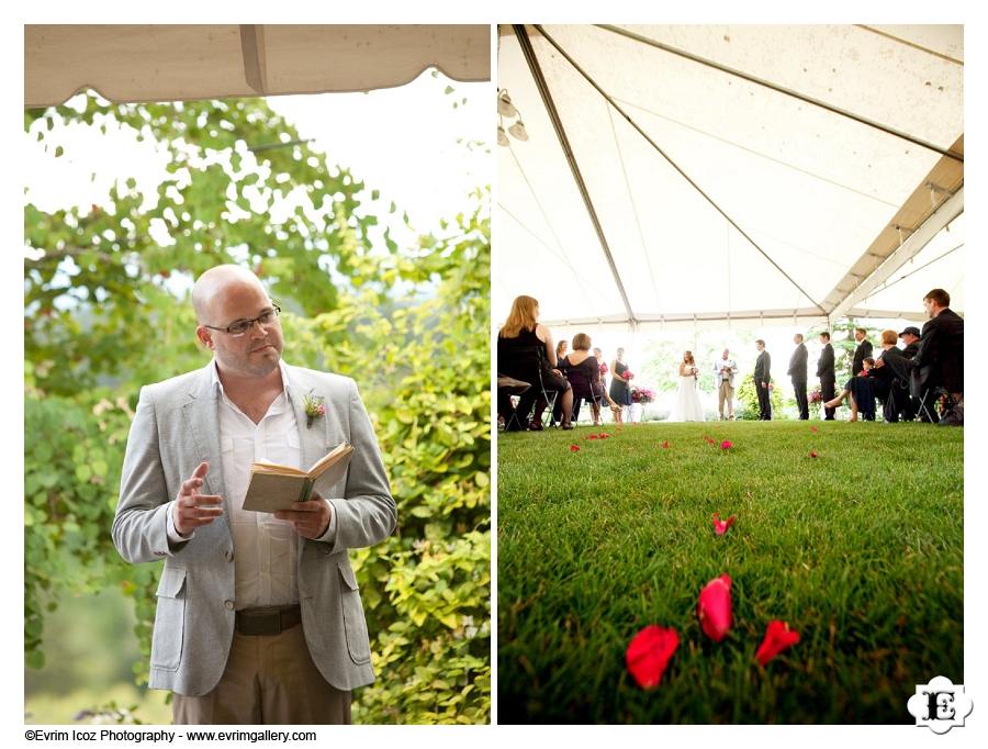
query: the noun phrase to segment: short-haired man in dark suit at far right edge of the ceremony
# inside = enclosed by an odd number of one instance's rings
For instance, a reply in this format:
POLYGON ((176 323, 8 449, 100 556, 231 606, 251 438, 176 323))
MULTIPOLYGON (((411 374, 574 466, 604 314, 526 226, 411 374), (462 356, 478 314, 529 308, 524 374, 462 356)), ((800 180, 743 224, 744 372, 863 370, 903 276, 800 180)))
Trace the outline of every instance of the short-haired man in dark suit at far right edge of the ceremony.
POLYGON ((912 394, 922 398, 940 388, 946 392, 941 424, 961 426, 964 410, 964 320, 950 309, 951 295, 933 289, 923 297, 930 316, 912 357, 912 394))

